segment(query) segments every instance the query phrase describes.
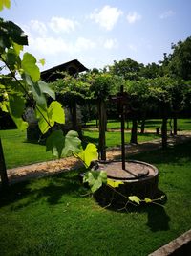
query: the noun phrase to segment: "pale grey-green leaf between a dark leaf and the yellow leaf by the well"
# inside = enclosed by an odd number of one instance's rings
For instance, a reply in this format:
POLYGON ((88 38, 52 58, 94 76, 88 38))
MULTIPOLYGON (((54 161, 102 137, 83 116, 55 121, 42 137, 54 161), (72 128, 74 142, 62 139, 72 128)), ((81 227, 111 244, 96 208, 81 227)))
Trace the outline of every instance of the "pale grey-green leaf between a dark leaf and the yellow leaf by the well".
POLYGON ((69 156, 79 153, 81 151, 81 140, 78 138, 78 133, 70 130, 65 136, 65 147, 62 151, 63 156, 69 156))

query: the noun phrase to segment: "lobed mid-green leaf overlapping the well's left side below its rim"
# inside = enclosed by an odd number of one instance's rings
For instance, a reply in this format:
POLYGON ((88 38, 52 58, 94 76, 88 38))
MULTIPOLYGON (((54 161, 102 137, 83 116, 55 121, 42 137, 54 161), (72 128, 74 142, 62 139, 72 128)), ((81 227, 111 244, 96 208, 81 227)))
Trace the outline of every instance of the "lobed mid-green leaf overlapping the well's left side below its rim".
POLYGON ((98 190, 103 183, 107 182, 107 174, 104 171, 98 172, 98 171, 91 171, 87 172, 83 177, 83 182, 88 182, 91 191, 93 193, 98 190))

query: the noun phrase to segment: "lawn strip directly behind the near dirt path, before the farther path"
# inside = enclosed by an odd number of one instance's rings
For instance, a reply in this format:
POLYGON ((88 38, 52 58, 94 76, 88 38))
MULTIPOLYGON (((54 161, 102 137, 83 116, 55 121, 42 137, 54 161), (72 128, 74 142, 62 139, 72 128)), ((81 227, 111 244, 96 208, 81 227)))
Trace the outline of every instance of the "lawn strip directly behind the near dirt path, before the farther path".
MULTIPOLYGON (((50 151, 46 152, 45 146, 37 143, 28 143, 26 141, 26 132, 21 132, 18 129, 0 130, 0 137, 7 168, 55 159, 50 151)), ((158 137, 153 134, 139 135, 138 141, 151 140, 158 137)), ((125 140, 129 142, 130 134, 125 135, 125 140)), ((84 131, 83 141, 87 143, 93 142, 98 145, 98 132, 84 131)), ((120 133, 107 132, 107 147, 118 145, 120 145, 120 133)))

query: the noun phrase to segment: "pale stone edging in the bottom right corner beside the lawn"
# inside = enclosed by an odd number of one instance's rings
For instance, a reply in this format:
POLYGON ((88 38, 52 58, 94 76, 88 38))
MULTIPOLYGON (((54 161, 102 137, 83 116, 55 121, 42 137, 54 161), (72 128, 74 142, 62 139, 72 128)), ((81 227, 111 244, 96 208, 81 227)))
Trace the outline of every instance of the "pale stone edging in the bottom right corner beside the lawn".
POLYGON ((191 229, 148 256, 191 255, 191 229))

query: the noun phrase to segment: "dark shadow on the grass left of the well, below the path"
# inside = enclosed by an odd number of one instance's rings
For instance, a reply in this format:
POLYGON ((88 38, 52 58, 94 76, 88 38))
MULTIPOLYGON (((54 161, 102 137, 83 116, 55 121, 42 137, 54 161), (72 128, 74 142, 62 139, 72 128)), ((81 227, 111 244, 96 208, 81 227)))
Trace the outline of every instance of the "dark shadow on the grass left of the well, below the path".
POLYGON ((81 198, 80 195, 85 194, 84 191, 86 189, 81 186, 76 171, 50 175, 12 184, 6 191, 1 191, 0 207, 12 204, 11 208, 15 210, 41 199, 54 205, 67 196, 81 198))

